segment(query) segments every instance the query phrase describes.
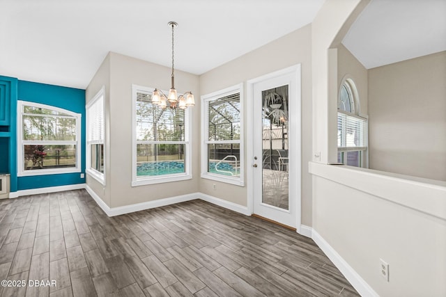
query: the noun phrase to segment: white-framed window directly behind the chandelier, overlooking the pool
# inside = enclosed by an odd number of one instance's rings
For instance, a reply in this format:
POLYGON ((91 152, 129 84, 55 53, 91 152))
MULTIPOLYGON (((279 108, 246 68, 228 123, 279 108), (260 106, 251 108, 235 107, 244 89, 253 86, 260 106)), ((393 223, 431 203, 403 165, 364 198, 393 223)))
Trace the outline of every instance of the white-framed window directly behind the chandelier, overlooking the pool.
POLYGON ((132 186, 192 178, 189 109, 160 109, 153 88, 133 86, 132 186))

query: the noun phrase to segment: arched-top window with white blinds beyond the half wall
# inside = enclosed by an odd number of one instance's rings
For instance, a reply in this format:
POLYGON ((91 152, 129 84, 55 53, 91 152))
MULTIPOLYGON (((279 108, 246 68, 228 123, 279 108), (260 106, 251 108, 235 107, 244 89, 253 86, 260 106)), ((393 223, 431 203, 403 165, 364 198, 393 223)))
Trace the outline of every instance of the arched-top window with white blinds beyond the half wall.
POLYGON ((341 84, 337 113, 337 161, 367 167, 367 118, 358 115, 357 90, 352 79, 341 84))

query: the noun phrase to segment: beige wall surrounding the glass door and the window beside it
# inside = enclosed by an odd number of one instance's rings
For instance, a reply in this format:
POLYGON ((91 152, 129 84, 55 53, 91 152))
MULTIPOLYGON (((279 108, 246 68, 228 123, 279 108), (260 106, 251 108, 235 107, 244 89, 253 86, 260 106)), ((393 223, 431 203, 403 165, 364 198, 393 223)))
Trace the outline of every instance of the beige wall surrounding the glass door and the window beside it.
MULTIPOLYGON (((307 25, 293 33, 285 35, 268 45, 240 56, 235 60, 217 67, 200 77, 200 93, 206 95, 217 90, 246 82, 249 79, 261 77, 264 74, 281 70, 291 65, 302 66, 302 223, 312 225, 312 179, 307 170, 307 164, 312 157, 312 26, 307 25)), ((245 83, 245 115, 252 106, 247 106, 247 91, 245 83)), ((245 143, 247 127, 252 123, 245 122, 245 143)), ((291 136, 290 136, 291 137, 291 136)), ((247 150, 252 147, 245 145, 245 172, 247 150)), ((246 175, 245 175, 246 178, 246 175)), ((291 181, 290 181, 291 182, 291 181)), ((246 184, 246 181, 245 181, 246 184)), ((243 206, 247 205, 247 187, 222 184, 209 179, 201 179, 200 192, 213 195, 243 206), (213 190, 217 184, 217 190, 213 190)))

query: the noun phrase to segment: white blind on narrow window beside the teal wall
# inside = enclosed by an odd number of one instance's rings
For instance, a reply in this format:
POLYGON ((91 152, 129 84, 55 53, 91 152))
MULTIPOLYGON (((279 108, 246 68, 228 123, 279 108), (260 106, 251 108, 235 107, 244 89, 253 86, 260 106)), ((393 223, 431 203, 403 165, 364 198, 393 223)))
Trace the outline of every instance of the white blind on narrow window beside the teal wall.
POLYGON ((88 139, 89 143, 104 142, 104 96, 96 99, 87 109, 87 121, 89 125, 88 139))

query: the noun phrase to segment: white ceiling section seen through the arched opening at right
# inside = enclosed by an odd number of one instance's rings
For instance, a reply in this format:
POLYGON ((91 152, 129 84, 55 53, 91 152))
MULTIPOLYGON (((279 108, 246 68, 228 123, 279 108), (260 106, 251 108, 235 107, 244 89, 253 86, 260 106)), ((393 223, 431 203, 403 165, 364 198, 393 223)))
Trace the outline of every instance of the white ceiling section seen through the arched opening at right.
POLYGON ((446 0, 372 0, 342 43, 367 69, 446 50, 446 0))

